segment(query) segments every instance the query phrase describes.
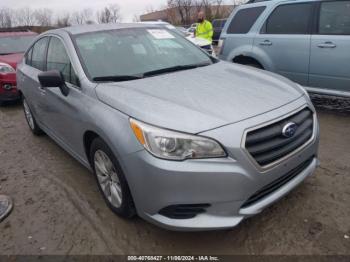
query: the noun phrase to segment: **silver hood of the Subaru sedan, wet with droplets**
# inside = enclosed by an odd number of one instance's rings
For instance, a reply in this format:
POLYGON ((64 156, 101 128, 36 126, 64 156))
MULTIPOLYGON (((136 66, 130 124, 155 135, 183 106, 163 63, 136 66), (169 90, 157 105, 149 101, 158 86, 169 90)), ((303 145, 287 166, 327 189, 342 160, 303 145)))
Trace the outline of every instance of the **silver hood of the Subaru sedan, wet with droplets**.
POLYGON ((133 118, 189 133, 242 121, 303 95, 283 77, 227 62, 103 83, 96 93, 102 102, 133 118))

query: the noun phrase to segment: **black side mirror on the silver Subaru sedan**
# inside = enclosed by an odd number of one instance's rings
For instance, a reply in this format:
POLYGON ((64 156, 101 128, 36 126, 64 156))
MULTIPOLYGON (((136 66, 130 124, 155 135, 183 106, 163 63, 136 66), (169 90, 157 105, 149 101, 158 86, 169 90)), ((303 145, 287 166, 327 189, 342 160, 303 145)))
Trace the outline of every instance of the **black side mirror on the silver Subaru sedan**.
POLYGON ((69 88, 64 81, 62 73, 58 70, 42 72, 38 75, 40 85, 43 88, 58 87, 64 96, 68 96, 69 88))

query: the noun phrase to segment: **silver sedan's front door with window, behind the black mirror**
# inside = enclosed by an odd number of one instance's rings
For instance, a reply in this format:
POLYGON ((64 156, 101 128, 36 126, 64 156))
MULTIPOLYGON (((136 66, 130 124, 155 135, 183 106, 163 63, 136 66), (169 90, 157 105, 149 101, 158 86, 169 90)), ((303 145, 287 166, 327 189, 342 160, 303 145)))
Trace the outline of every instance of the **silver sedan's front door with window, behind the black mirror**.
POLYGON ((47 110, 44 112, 43 121, 51 134, 63 143, 67 150, 76 152, 82 140, 83 125, 79 115, 82 92, 66 48, 57 37, 50 38, 46 67, 47 71, 58 70, 62 73, 69 87, 69 94, 64 96, 59 88, 45 88, 47 110))

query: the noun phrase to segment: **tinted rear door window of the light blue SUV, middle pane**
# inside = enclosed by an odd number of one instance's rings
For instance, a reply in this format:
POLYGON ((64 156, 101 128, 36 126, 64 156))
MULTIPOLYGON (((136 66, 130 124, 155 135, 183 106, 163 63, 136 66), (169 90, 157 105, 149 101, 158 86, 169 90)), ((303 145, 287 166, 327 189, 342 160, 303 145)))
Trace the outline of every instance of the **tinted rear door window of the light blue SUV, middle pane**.
POLYGON ((287 4, 278 6, 267 19, 266 34, 310 34, 313 4, 287 4))

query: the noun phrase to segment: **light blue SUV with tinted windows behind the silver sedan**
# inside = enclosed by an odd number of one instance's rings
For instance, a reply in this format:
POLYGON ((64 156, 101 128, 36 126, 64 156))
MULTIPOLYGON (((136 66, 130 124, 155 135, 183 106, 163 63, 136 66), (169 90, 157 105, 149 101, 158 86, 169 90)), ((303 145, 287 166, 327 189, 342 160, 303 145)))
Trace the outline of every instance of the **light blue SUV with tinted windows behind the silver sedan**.
POLYGON ((242 5, 220 44, 221 59, 281 74, 311 92, 350 95, 350 0, 242 5))

